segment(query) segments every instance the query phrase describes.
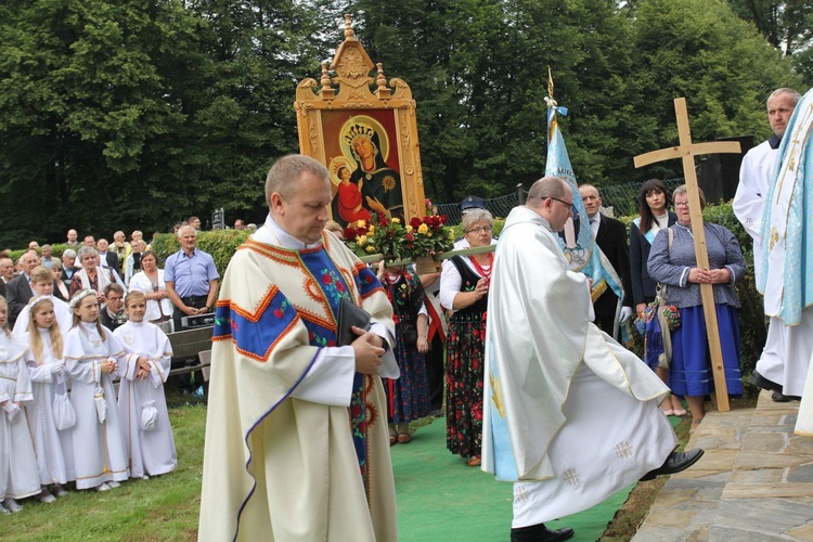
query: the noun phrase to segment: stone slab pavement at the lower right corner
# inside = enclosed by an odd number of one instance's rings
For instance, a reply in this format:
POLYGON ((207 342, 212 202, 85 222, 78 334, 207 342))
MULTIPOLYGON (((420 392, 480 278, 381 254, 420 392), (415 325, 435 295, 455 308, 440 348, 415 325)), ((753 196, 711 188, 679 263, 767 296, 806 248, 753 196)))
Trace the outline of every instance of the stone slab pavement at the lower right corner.
POLYGON ((663 486, 633 542, 813 541, 813 438, 799 402, 710 412, 687 449, 706 454, 663 486))

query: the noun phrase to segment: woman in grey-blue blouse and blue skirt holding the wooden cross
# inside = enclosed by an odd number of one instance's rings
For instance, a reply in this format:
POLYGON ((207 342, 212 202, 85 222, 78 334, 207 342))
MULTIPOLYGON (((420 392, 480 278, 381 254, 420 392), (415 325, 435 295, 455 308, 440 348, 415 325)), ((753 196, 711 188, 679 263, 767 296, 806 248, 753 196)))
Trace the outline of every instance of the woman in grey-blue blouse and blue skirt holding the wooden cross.
MULTIPOLYGON (((743 395, 737 322, 739 301, 734 283, 745 274, 745 260, 732 232, 722 225, 706 222, 704 231, 709 269, 698 268, 685 184, 674 191, 672 199, 678 222, 655 237, 648 269, 654 280, 668 285, 667 304, 676 306, 681 312, 681 325, 672 332, 669 387, 673 393, 686 397, 692 411, 692 429, 696 429, 706 415, 704 398, 714 388, 700 284, 713 285, 728 395, 743 395)), ((700 191, 700 209, 704 207, 706 198, 700 191)))

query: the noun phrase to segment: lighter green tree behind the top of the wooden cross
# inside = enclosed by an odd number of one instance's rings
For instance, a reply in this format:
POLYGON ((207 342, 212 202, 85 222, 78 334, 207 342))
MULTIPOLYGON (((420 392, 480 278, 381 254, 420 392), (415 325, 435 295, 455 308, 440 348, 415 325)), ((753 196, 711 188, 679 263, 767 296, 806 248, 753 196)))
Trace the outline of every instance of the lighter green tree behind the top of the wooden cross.
MULTIPOLYGON (((678 141, 672 101, 686 96, 695 141, 754 133, 767 137, 765 100, 799 78, 753 27, 721 0, 640 0, 634 12, 632 80, 654 127, 651 140, 635 154, 678 141)), ((646 144, 644 146, 643 144, 646 144)), ((648 175, 680 177, 680 164, 666 163, 648 175)))

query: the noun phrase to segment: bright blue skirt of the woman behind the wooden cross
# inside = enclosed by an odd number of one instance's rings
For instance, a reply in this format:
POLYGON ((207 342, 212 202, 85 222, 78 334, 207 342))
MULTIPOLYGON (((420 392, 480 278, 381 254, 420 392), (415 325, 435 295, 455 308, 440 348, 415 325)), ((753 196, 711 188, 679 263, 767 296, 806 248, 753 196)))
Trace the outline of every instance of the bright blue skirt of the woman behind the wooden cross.
MULTIPOLYGON (((717 320, 728 395, 741 396, 737 309, 730 305, 717 305, 717 320)), ((714 374, 711 370, 711 354, 701 306, 681 309, 681 326, 672 332, 669 387, 672 388, 672 393, 693 397, 708 395, 714 389, 714 374)))

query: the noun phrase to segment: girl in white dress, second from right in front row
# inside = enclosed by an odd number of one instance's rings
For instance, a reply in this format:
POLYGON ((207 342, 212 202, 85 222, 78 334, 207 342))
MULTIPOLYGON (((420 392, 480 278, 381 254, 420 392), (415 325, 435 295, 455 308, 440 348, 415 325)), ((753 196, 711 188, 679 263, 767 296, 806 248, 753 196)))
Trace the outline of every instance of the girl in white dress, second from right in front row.
MULTIPOLYGON (((70 376, 70 403, 76 489, 117 488, 129 477, 127 452, 116 410, 113 374, 129 362, 121 343, 99 322, 93 289, 80 289, 70 300, 74 327, 65 338, 65 370, 70 376)), ((138 357, 134 357, 138 359, 138 357)))

